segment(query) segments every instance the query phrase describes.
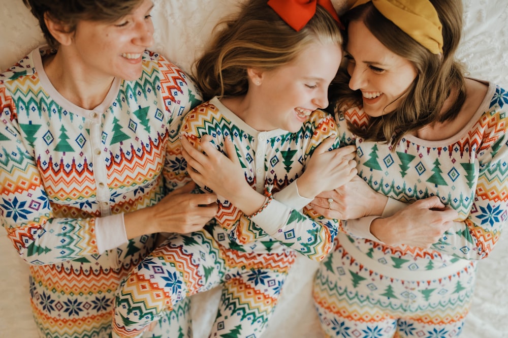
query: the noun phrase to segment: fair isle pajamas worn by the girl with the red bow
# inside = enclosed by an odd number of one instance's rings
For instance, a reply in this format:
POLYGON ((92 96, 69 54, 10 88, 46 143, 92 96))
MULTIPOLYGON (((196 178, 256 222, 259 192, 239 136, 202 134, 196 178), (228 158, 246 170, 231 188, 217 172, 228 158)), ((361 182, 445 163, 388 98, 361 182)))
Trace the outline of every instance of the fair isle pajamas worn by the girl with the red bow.
POLYGON ((270 198, 246 217, 219 196, 216 218, 206 230, 170 237, 119 288, 114 331, 137 336, 185 297, 221 285, 210 336, 260 337, 295 253, 320 261, 333 245, 338 222, 307 208, 302 212, 310 200, 298 195, 296 179, 315 147, 336 132, 333 116, 320 110, 297 133, 254 130, 217 98, 191 111, 182 135, 196 147, 198 139, 211 135, 221 151, 224 139, 232 138, 245 179, 270 198))

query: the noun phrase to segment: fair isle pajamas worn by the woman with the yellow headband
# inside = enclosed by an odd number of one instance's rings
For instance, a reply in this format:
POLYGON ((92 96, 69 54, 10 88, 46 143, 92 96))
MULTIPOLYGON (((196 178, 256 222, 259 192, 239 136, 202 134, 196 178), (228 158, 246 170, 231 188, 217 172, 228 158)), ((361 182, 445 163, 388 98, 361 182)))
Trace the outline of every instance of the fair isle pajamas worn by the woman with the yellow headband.
MULTIPOLYGON (((314 280, 314 300, 332 337, 452 337, 460 333, 475 266, 508 217, 508 93, 490 84, 477 113, 443 141, 404 137, 387 144, 355 137, 361 107, 336 116, 341 143, 356 144, 359 175, 379 193, 410 203, 437 195, 459 219, 424 250, 339 233, 314 280)), ((348 223, 341 227, 347 231, 348 223)), ((350 229, 351 230, 351 229, 350 229)))

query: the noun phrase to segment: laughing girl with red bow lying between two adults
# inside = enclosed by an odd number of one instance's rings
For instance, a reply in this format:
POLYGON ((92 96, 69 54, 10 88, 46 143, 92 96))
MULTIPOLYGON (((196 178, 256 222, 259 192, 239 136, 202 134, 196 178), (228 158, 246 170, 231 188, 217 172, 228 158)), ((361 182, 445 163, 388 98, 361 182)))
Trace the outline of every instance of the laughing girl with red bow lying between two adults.
POLYGON ((321 261, 331 250, 338 221, 305 206, 356 175, 356 148, 337 148, 335 121, 321 110, 341 42, 329 0, 250 0, 225 22, 196 64, 208 101, 181 127, 188 174, 217 194, 216 217, 171 235, 124 280, 117 335, 138 336, 220 285, 210 336, 260 337, 297 252, 321 261))

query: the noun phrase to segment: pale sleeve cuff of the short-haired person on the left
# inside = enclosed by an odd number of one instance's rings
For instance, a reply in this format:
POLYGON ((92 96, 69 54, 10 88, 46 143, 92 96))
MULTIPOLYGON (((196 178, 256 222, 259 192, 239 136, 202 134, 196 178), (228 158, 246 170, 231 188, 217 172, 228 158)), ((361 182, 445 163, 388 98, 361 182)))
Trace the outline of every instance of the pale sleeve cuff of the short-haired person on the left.
POLYGON ((96 219, 96 241, 100 254, 129 241, 125 233, 123 213, 96 219))

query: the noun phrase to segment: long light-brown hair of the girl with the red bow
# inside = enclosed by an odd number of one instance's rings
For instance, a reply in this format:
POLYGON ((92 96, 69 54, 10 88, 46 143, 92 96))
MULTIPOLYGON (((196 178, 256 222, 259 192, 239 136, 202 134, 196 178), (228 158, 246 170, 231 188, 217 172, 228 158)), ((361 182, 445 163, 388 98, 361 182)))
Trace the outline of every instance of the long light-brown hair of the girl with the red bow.
POLYGON ((240 96, 247 93, 247 69, 273 70, 288 64, 310 43, 341 45, 340 28, 321 6, 296 32, 267 5, 249 0, 240 12, 219 22, 211 44, 193 65, 203 98, 240 96))

